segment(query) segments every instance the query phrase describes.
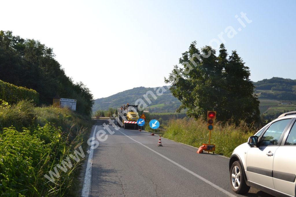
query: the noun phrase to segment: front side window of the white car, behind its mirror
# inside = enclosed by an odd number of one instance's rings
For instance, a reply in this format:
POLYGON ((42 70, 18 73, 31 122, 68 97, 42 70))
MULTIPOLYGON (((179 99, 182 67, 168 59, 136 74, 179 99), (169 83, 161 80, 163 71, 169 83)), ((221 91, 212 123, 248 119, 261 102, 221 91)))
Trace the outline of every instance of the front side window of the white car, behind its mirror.
POLYGON ((291 119, 284 119, 272 123, 263 134, 260 146, 277 145, 279 143, 279 138, 281 138, 281 134, 284 132, 290 121, 291 119))

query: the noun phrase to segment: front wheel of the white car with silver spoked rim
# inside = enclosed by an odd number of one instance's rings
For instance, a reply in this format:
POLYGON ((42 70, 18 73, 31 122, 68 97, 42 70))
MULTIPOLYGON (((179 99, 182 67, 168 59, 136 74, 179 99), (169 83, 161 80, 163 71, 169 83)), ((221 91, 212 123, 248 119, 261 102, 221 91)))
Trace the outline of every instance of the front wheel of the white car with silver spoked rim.
POLYGON ((231 165, 230 184, 231 189, 238 194, 244 194, 250 190, 250 186, 247 186, 245 182, 244 172, 239 161, 235 161, 231 165))

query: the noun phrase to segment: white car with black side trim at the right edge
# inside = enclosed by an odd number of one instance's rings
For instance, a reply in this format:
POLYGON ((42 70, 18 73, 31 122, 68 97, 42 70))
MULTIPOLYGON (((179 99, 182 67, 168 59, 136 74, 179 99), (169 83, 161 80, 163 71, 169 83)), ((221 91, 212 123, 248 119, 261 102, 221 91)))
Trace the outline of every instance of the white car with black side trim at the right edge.
POLYGON ((295 196, 295 121, 296 111, 281 114, 234 149, 229 170, 235 193, 254 187, 274 196, 295 196))

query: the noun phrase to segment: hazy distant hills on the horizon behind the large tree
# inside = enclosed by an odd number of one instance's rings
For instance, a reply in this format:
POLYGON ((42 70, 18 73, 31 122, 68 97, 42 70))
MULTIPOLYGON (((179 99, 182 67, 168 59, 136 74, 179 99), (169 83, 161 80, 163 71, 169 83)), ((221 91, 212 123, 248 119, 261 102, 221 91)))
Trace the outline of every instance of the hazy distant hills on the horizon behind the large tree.
MULTIPOLYGON (((268 110, 291 111, 295 109, 296 80, 272 77, 271 79, 263 79, 253 83, 256 87, 255 94, 260 99, 261 113, 268 110)), ((137 99, 143 99, 148 104, 143 95, 148 91, 152 91, 157 96, 156 90, 157 88, 138 87, 106 98, 96 99, 93 105, 93 112, 107 110, 108 108, 118 108, 127 103, 134 104, 137 99)), ((157 99, 153 99, 150 95, 148 98, 152 101, 147 106, 149 112, 176 112, 176 109, 181 105, 180 101, 172 96, 170 90, 164 92, 162 96, 157 96, 157 99)))

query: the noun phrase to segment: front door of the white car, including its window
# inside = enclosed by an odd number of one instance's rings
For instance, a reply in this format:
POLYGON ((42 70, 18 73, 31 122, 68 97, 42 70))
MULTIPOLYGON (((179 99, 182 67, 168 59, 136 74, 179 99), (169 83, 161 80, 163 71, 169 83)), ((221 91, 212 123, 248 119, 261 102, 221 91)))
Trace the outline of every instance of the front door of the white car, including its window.
POLYGON ((284 118, 272 122, 260 136, 258 146, 247 151, 246 173, 249 181, 274 189, 272 177, 274 154, 291 120, 284 118))

